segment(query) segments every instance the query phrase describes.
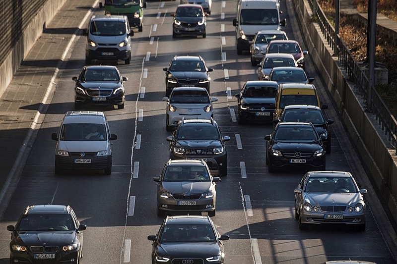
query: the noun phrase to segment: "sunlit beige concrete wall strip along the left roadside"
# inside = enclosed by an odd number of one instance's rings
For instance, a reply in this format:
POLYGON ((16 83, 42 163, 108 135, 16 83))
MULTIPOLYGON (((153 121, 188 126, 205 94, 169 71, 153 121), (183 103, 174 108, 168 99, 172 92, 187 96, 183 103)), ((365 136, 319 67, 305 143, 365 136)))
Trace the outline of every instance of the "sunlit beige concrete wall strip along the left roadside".
POLYGON ((43 34, 43 28, 50 23, 67 0, 48 0, 15 43, 14 48, 0 65, 0 96, 4 93, 21 61, 29 53, 36 40, 43 34))

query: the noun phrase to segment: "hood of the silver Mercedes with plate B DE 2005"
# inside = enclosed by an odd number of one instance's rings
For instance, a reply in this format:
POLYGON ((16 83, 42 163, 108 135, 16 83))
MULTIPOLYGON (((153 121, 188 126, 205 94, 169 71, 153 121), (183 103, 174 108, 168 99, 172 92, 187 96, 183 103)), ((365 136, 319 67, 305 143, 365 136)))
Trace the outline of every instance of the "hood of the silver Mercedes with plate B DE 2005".
POLYGON ((303 193, 305 202, 313 205, 347 205, 354 206, 362 201, 360 193, 303 193))

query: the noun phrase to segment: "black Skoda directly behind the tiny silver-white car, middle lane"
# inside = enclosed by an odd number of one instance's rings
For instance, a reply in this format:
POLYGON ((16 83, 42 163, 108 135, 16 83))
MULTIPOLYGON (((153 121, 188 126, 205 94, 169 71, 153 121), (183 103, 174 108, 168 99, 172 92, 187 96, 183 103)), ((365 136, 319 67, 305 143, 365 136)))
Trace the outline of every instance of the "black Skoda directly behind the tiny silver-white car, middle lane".
POLYGON ((209 93, 211 78, 209 73, 213 68, 207 68, 201 56, 174 56, 165 71, 165 96, 169 97, 175 87, 202 87, 209 93))

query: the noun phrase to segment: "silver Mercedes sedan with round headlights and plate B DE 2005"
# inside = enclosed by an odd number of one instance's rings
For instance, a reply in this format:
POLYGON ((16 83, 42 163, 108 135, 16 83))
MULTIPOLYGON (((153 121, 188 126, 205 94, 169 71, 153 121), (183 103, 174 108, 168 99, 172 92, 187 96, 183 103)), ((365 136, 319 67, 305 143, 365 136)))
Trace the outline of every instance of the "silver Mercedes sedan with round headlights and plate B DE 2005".
POLYGON ((309 171, 295 189, 295 218, 299 228, 309 224, 354 225, 365 231, 363 195, 350 172, 309 171))

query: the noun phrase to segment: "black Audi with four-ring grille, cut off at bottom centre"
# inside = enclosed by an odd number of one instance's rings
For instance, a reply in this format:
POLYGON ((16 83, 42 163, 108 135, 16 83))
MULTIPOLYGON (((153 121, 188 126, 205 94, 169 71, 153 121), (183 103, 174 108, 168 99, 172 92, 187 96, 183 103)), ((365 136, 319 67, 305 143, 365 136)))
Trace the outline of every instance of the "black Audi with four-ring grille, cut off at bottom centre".
POLYGON ((153 241, 151 259, 153 264, 223 264, 224 240, 209 216, 167 216, 153 241))

